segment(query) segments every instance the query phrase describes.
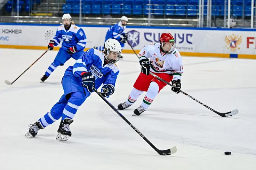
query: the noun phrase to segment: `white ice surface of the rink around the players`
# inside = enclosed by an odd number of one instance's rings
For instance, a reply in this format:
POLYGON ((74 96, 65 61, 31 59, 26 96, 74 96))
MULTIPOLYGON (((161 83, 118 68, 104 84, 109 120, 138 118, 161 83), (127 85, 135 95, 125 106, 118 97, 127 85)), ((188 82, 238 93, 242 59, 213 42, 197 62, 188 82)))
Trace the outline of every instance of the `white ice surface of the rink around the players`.
MULTIPOLYGON (((144 95, 120 111, 158 149, 177 146, 160 156, 97 94, 78 109, 66 142, 55 139, 60 120, 24 134, 63 94, 61 78, 73 65, 70 59, 45 81, 40 78, 58 51, 48 51, 14 84, 43 50, 0 49, 0 169, 56 170, 255 170, 256 169, 256 60, 183 57, 182 90, 218 112, 238 109, 222 118, 166 86, 141 116, 132 116, 144 95), (224 155, 231 151, 231 155, 224 155)), ((115 93, 108 101, 124 102, 140 73, 134 54, 123 54, 115 93)))

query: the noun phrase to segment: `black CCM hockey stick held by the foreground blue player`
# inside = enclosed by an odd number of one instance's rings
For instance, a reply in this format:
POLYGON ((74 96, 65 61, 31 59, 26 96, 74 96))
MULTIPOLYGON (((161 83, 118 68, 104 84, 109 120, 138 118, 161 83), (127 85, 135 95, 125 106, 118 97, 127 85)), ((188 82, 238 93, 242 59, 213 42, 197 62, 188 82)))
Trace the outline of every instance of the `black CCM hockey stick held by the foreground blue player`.
POLYGON ((132 127, 132 129, 137 132, 140 137, 142 137, 159 155, 171 155, 174 154, 177 151, 176 146, 172 147, 171 149, 167 149, 167 150, 159 150, 156 148, 156 146, 154 146, 144 135, 142 135, 142 133, 135 128, 131 122, 129 122, 120 112, 118 112, 118 110, 116 110, 116 108, 108 102, 107 99, 105 99, 99 91, 97 91, 97 89, 93 88, 93 90, 97 93, 97 95, 99 95, 129 126, 132 127))

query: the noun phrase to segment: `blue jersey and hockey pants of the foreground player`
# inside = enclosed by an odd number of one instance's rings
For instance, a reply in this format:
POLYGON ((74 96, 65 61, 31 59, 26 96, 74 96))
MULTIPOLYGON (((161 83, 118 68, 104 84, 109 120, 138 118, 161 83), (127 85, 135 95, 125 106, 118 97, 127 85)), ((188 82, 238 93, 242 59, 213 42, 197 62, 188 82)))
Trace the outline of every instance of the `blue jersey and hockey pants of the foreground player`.
POLYGON ((95 88, 98 89, 102 84, 116 85, 116 78, 119 69, 116 64, 106 64, 103 66, 105 56, 102 51, 96 49, 87 50, 74 66, 69 66, 65 71, 62 86, 65 96, 72 92, 83 92, 86 97, 90 92, 83 87, 81 73, 91 72, 95 76, 95 88))

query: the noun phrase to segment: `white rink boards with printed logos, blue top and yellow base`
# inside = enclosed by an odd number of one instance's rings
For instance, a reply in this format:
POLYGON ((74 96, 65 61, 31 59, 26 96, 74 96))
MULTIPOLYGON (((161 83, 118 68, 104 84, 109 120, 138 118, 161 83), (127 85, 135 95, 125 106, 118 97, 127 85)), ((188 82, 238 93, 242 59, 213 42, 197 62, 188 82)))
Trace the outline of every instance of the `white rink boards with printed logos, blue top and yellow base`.
MULTIPOLYGON (((2 23, 0 47, 46 49, 58 26, 60 25, 2 23)), ((110 26, 80 27, 86 34, 88 49, 104 44, 110 26)), ((128 26, 126 32, 128 41, 136 52, 149 43, 159 42, 162 33, 170 32, 176 40, 176 48, 183 56, 256 59, 256 29, 128 26)), ((127 43, 123 53, 132 53, 127 43)))

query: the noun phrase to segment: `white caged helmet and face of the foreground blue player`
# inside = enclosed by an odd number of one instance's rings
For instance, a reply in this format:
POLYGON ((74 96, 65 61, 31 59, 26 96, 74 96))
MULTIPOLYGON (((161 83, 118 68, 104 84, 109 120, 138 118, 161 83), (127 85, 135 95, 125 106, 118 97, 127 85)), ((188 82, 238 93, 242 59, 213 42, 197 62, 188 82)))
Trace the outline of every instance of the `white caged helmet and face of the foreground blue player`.
POLYGON ((122 47, 120 43, 109 38, 104 44, 104 55, 109 63, 115 64, 121 57, 122 47))

